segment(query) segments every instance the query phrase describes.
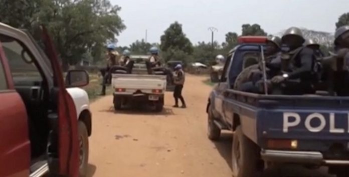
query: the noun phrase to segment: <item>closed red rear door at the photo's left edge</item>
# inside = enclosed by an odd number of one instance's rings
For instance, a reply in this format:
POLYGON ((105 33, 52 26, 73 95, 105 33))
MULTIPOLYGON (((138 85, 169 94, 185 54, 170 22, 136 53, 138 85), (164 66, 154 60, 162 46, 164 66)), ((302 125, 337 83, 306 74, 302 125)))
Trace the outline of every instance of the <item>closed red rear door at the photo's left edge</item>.
POLYGON ((31 160, 28 117, 0 42, 0 176, 27 177, 31 160))

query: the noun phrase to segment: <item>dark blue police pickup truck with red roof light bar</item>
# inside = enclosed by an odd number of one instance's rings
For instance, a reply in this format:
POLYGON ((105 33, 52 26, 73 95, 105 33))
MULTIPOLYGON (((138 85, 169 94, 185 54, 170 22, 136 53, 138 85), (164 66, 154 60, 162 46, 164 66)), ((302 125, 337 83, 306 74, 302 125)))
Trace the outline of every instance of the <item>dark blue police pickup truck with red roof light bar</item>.
POLYGON ((265 37, 242 36, 210 93, 208 137, 233 131, 232 171, 255 177, 278 164, 328 166, 349 176, 349 97, 264 95, 234 90, 239 73, 259 62, 265 37))

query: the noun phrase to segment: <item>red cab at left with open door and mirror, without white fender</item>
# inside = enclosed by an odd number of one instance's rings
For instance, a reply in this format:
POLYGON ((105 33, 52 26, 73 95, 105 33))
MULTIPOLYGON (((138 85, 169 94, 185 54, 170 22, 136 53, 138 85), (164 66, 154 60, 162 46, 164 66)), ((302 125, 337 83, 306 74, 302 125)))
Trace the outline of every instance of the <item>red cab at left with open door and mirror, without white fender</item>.
POLYGON ((66 80, 52 41, 44 49, 25 30, 0 23, 0 176, 79 176, 76 108, 66 86, 88 84, 88 73, 66 80))

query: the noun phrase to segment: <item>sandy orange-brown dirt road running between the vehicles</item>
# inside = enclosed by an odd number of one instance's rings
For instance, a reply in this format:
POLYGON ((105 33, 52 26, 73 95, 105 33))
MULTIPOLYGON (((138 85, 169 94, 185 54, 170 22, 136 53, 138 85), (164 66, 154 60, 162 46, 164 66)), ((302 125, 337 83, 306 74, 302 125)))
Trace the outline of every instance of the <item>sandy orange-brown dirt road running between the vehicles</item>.
MULTIPOLYGON (((231 176, 232 134, 223 133, 215 143, 206 135, 205 108, 212 87, 203 83, 205 77, 188 75, 186 79, 187 109, 171 107, 171 92, 166 93, 164 111, 158 114, 115 112, 112 96, 93 102, 89 176, 231 176)), ((299 176, 306 175, 301 173, 299 176)), ((325 176, 314 171, 309 174, 325 176)))

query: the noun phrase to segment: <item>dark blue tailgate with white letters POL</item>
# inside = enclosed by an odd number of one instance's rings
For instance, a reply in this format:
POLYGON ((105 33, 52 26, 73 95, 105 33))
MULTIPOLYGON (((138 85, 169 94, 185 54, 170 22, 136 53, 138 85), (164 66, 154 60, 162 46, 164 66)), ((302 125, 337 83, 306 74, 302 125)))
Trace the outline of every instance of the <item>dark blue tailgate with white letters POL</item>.
POLYGON ((293 96, 259 100, 257 124, 268 138, 349 140, 349 100, 293 96))

